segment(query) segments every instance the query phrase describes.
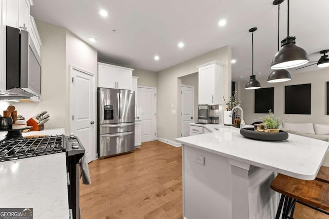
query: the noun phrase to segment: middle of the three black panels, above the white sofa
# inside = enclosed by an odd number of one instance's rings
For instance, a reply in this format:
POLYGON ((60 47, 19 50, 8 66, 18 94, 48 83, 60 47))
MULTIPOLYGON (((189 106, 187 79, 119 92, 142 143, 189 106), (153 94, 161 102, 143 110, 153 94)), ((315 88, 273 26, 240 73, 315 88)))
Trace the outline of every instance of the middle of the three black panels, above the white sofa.
POLYGON ((285 114, 310 114, 310 84, 285 86, 285 114))

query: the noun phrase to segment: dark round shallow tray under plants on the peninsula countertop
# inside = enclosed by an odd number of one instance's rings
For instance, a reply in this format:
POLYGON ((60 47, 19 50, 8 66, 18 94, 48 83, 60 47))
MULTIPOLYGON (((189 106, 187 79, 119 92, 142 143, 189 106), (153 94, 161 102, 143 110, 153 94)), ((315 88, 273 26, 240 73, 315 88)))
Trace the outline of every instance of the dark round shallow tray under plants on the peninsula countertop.
POLYGON ((254 131, 253 128, 240 129, 240 134, 247 138, 252 138, 255 140, 273 141, 273 142, 286 140, 289 136, 287 132, 282 131, 282 130, 280 130, 277 133, 258 132, 258 131, 254 131))

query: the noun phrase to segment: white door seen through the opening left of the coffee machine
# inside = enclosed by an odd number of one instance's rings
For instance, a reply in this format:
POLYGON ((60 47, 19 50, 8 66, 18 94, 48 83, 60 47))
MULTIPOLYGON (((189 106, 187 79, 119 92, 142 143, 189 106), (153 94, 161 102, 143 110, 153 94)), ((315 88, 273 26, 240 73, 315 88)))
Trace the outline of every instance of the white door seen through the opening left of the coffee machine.
POLYGON ((189 123, 194 122, 194 87, 181 85, 181 136, 190 135, 189 123))

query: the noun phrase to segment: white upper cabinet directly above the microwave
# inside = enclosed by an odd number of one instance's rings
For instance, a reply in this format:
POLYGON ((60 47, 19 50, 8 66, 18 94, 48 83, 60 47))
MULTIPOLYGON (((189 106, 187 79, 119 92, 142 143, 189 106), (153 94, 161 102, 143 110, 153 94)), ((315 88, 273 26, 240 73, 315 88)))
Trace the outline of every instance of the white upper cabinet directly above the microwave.
POLYGON ((30 1, 7 1, 6 25, 29 31, 30 1))

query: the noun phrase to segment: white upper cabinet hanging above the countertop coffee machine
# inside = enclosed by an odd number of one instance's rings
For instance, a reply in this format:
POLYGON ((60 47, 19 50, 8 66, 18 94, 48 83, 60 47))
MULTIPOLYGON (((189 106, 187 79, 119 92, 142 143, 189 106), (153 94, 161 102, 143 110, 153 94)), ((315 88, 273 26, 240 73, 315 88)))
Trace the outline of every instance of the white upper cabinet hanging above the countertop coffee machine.
POLYGON ((213 61, 199 69, 199 104, 222 104, 223 63, 213 61))

